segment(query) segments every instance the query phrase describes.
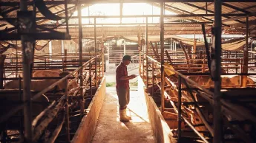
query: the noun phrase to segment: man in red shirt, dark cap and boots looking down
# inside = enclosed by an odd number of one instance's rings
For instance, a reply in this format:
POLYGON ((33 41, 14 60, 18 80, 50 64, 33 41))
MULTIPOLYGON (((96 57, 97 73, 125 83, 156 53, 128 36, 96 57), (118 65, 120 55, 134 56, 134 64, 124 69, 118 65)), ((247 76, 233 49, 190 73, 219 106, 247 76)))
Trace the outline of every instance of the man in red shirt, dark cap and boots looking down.
POLYGON ((130 86, 129 80, 134 79, 137 75, 128 76, 127 65, 131 62, 131 56, 122 57, 122 62, 116 68, 116 93, 119 102, 119 114, 121 122, 128 122, 131 119, 126 115, 126 108, 130 102, 130 86))

